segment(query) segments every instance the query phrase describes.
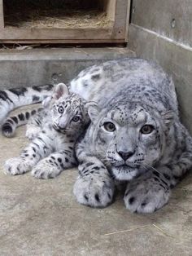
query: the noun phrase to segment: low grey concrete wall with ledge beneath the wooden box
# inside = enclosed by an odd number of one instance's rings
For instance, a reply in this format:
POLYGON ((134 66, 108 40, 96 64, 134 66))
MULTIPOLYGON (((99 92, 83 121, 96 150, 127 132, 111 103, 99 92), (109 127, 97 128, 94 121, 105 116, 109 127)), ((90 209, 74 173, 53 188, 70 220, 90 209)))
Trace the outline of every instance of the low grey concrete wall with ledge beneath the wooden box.
POLYGON ((48 48, 0 52, 0 90, 69 82, 82 69, 135 56, 128 48, 48 48))

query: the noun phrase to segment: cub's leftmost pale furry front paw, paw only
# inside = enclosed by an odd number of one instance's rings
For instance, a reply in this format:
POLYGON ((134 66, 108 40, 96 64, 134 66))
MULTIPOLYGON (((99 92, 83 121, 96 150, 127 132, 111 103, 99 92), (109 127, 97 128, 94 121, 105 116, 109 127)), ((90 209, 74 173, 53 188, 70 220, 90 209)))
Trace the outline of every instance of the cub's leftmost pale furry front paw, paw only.
POLYGON ((14 157, 5 162, 4 169, 6 174, 16 175, 26 173, 31 170, 31 166, 23 158, 14 157))

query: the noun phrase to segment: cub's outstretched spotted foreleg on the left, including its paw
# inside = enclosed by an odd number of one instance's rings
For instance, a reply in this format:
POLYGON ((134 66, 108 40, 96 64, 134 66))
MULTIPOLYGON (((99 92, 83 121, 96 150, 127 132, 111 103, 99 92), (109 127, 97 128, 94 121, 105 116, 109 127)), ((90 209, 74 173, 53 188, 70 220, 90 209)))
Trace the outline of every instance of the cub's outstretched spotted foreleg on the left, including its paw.
POLYGON ((7 174, 24 174, 32 170, 42 158, 50 155, 54 151, 53 139, 45 134, 43 130, 41 134, 29 143, 21 152, 20 157, 8 159, 5 163, 7 174))

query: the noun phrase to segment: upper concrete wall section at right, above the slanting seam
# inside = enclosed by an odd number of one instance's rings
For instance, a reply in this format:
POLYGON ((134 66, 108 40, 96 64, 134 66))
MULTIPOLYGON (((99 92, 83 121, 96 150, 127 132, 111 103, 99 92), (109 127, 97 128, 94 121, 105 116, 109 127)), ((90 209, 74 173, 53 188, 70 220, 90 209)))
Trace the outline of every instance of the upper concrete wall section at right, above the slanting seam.
POLYGON ((133 0, 132 23, 192 46, 191 0, 133 0))

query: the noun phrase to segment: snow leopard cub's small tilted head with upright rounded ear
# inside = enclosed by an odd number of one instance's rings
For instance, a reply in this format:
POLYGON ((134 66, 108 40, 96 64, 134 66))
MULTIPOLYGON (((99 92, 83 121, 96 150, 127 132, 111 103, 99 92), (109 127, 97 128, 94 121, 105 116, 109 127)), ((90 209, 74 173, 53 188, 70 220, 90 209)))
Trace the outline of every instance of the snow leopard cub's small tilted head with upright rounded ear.
POLYGON ((80 135, 89 123, 85 103, 79 95, 69 93, 65 84, 59 83, 52 97, 46 98, 42 104, 44 108, 50 108, 55 130, 63 134, 80 135))

